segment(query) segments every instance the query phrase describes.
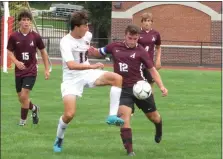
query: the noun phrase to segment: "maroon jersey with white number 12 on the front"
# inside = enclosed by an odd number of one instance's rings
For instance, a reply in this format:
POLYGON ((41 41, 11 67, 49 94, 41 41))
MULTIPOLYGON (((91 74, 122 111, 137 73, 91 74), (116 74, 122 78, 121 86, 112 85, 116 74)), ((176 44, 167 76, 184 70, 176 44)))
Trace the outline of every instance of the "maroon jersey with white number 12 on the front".
POLYGON ((123 88, 133 87, 137 81, 145 79, 142 72, 143 65, 148 69, 153 67, 150 56, 141 45, 128 48, 125 43, 116 42, 102 49, 112 54, 114 72, 123 77, 123 88))

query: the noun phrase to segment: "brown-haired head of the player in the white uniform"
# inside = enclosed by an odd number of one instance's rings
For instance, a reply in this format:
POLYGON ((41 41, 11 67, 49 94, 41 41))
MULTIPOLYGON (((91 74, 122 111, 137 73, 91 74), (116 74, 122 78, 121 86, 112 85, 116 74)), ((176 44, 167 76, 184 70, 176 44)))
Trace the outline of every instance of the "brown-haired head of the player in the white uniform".
POLYGON ((75 31, 81 38, 89 30, 88 13, 85 10, 74 12, 70 20, 71 30, 75 31))

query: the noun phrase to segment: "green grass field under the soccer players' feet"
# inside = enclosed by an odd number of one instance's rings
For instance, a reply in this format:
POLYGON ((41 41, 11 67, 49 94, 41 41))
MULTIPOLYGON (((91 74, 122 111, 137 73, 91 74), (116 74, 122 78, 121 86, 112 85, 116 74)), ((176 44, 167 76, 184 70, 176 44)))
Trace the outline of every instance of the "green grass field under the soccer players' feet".
MULTIPOLYGON (((77 115, 65 133, 64 151, 53 153, 58 119, 63 105, 60 94, 61 67, 54 66, 51 79, 43 72, 31 94, 40 109, 40 123, 19 127, 20 104, 14 88, 14 73, 1 77, 2 159, 124 159, 117 127, 105 124, 110 87, 85 89, 78 100, 77 115)), ((163 118, 164 136, 154 142, 154 126, 136 109, 132 118, 137 159, 221 158, 221 73, 219 71, 161 70, 168 97, 155 98, 163 118)))

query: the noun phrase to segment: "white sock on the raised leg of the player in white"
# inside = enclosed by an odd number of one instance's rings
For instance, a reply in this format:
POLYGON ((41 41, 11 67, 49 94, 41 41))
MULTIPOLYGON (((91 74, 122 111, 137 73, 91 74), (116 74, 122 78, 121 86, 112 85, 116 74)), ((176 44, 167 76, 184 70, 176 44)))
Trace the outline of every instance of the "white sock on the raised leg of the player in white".
POLYGON ((116 87, 116 86, 111 87, 109 115, 117 115, 118 108, 119 108, 121 91, 122 91, 122 89, 119 88, 119 87, 116 87))

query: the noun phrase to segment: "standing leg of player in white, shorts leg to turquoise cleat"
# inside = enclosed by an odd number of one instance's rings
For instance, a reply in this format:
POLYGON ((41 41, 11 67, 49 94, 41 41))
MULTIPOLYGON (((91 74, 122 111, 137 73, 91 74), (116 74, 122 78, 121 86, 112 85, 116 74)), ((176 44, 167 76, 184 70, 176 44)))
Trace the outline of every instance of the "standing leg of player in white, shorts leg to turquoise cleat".
POLYGON ((53 146, 54 152, 62 151, 65 130, 76 113, 76 97, 81 96, 83 93, 84 84, 81 81, 82 80, 72 80, 61 84, 64 113, 59 118, 56 141, 53 146))

